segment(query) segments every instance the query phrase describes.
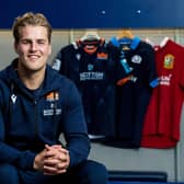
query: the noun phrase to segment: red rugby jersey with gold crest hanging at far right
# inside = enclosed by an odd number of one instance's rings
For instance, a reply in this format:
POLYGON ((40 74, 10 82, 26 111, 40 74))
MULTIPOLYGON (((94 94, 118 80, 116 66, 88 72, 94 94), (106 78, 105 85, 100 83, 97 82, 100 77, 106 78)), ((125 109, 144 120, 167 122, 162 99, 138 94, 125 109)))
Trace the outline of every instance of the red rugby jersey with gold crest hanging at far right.
POLYGON ((142 147, 172 148, 180 140, 184 99, 184 47, 169 39, 156 47, 159 85, 153 90, 147 111, 142 147))

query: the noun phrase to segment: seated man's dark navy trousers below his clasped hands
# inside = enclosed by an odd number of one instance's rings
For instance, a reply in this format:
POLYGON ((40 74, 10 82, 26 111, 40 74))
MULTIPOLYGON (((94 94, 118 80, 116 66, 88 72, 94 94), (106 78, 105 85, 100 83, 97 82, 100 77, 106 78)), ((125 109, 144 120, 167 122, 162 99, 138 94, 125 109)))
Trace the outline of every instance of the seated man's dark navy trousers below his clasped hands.
POLYGON ((23 171, 10 164, 0 164, 1 184, 107 184, 106 168, 95 161, 85 161, 65 174, 44 175, 41 172, 23 171))

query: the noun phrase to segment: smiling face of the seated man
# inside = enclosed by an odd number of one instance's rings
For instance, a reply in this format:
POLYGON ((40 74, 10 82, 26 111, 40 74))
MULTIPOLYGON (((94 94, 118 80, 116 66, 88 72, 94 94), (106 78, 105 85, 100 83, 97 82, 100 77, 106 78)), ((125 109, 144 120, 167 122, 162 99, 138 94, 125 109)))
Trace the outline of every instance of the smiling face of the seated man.
POLYGON ((51 53, 46 27, 28 25, 20 28, 20 41, 14 44, 14 48, 22 69, 34 72, 45 69, 51 53))

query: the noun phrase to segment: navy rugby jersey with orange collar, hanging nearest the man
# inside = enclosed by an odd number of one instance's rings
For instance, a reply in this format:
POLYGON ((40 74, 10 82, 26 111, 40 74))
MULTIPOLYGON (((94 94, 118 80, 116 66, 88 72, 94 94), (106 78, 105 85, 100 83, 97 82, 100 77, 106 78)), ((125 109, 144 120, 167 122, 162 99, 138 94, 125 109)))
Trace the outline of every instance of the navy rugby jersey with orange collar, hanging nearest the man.
MULTIPOLYGON (((77 84, 91 135, 115 136, 117 47, 104 39, 77 41, 61 48, 53 68, 77 84)), ((120 73, 120 72, 119 72, 120 73)))

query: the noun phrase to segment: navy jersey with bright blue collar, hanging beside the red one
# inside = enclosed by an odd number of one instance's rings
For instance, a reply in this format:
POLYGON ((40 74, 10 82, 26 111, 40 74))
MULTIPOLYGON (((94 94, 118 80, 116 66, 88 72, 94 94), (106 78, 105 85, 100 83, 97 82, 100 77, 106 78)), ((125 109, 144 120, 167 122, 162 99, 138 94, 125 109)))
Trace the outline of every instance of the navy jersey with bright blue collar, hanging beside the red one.
POLYGON ((152 88, 158 84, 154 50, 137 37, 131 41, 113 38, 112 44, 123 50, 129 67, 125 71, 129 74, 117 83, 116 136, 106 139, 105 143, 138 148, 152 88))

